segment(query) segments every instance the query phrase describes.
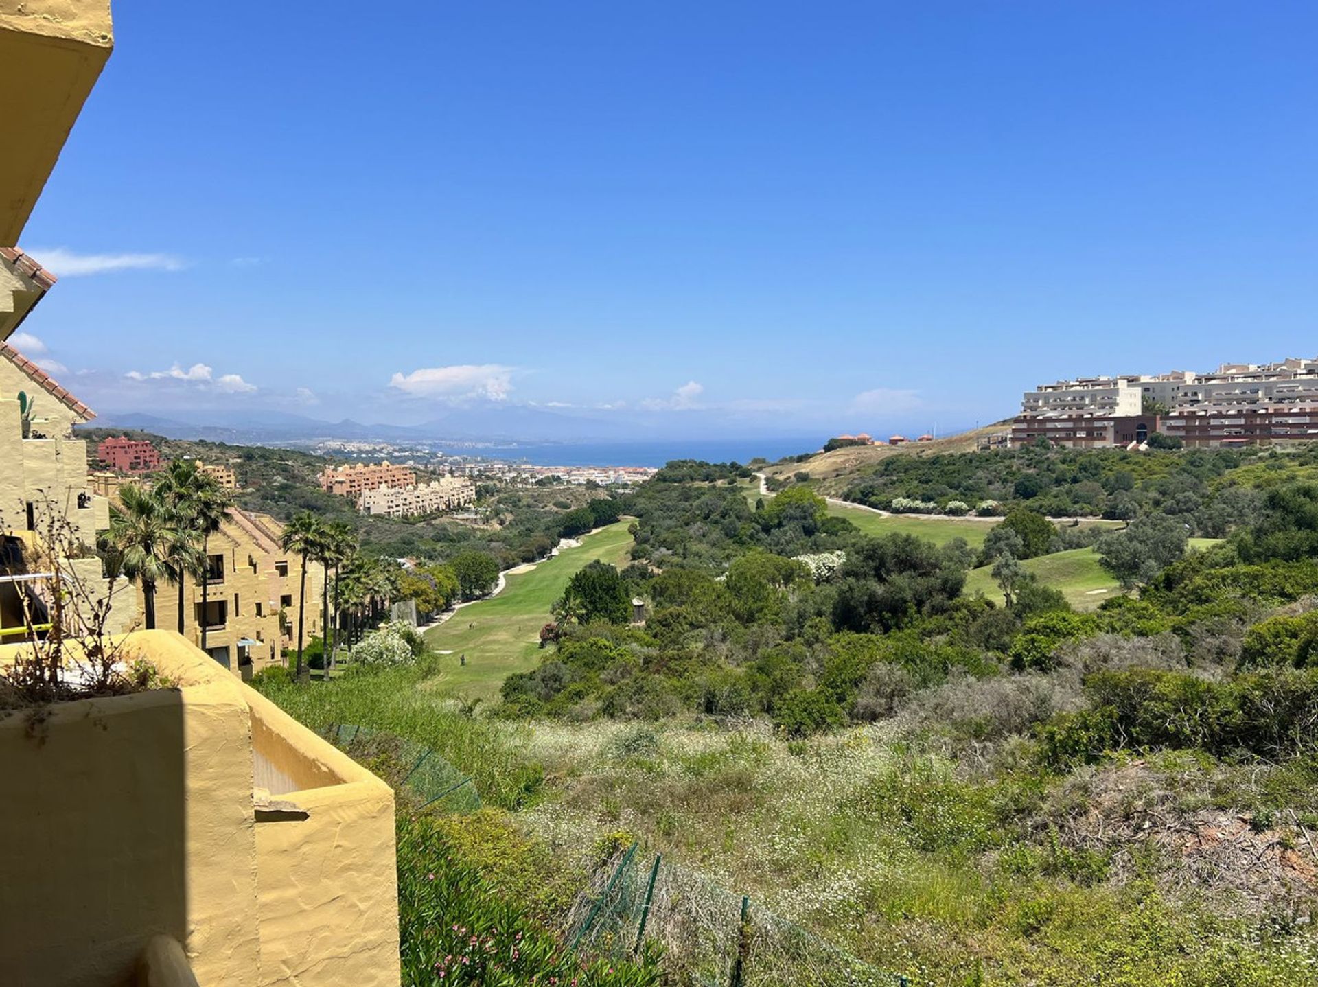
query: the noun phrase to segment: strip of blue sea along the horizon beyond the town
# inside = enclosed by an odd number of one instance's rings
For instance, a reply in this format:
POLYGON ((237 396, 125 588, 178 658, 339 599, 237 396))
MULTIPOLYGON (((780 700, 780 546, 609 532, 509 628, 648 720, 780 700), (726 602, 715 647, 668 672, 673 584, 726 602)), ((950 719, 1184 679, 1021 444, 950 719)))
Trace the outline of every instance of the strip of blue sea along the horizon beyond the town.
POLYGON ((676 459, 746 464, 757 456, 770 463, 784 456, 815 452, 820 437, 782 439, 671 439, 664 441, 598 443, 434 443, 452 456, 521 460, 536 466, 662 466, 676 459))

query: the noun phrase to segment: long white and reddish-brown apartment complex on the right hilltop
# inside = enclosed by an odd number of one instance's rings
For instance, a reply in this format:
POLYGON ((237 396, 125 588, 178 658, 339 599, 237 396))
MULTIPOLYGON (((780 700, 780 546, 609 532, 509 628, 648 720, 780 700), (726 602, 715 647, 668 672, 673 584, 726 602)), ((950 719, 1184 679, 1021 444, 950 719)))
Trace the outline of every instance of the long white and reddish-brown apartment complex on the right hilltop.
POLYGON ((1318 358, 1043 385, 1023 395, 1012 441, 1126 445, 1156 431, 1189 445, 1318 439, 1318 358), (1159 414, 1145 415, 1145 402, 1156 402, 1159 414))

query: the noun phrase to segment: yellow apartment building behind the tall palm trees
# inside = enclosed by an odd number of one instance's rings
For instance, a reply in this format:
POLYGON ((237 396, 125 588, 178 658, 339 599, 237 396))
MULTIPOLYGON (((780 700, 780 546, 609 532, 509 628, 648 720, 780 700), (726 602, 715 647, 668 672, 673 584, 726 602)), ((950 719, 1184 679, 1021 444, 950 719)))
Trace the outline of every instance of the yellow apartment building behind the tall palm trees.
MULTIPOLYGON (((243 680, 281 664, 297 647, 302 559, 283 551, 283 526, 268 514, 233 507, 211 535, 206 580, 183 581, 183 636, 243 680), (202 629, 206 629, 203 647, 202 629)), ((322 634, 324 567, 307 563, 306 640, 322 634)), ((138 605, 141 588, 137 589, 138 605)), ((178 588, 156 588, 156 626, 178 627, 178 588)))

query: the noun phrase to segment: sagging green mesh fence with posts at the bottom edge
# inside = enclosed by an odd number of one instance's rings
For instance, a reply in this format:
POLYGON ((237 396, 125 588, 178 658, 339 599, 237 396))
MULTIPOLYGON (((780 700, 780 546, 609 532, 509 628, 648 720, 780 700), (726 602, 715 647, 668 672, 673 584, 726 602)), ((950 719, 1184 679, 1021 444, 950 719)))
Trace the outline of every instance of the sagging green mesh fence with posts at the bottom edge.
POLYGON ((569 929, 573 946, 617 958, 643 941, 662 944, 664 966, 680 984, 907 987, 904 976, 634 845, 577 900, 569 929))

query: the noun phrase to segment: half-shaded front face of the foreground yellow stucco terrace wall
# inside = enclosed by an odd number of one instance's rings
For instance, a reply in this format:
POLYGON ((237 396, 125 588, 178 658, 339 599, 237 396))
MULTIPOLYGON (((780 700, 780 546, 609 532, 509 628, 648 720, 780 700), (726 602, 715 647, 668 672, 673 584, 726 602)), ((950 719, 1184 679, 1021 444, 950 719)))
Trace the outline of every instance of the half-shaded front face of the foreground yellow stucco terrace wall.
POLYGON ((163 933, 202 984, 260 983, 249 745, 204 681, 0 718, 0 979, 123 983, 163 933))

